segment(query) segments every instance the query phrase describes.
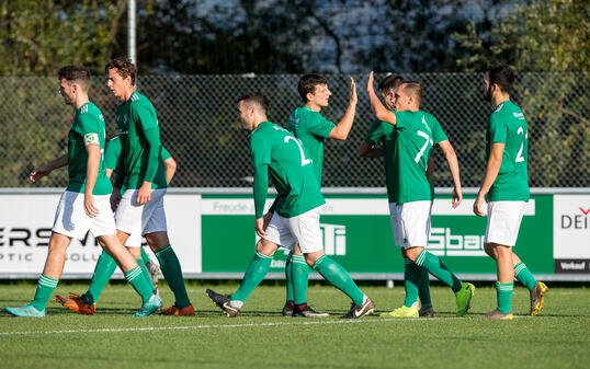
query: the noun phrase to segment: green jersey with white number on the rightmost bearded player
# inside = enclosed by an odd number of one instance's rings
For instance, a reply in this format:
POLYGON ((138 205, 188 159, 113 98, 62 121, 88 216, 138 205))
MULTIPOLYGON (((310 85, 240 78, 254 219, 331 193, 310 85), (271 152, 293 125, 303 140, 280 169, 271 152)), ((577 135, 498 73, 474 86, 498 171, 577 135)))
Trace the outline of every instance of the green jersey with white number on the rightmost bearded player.
POLYGON ((488 193, 489 200, 527 201, 530 197, 526 169, 529 129, 524 114, 511 101, 498 105, 489 117, 486 134, 486 160, 489 159, 493 142, 501 142, 506 146, 502 165, 488 193))

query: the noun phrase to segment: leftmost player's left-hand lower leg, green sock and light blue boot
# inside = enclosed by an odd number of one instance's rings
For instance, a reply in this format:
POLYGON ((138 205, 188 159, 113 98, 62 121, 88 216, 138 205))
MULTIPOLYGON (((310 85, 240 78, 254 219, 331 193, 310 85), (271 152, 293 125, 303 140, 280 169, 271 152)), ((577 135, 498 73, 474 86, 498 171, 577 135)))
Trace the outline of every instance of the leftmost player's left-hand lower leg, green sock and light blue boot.
POLYGON ((5 308, 7 312, 15 316, 45 316, 45 307, 52 297, 53 291, 57 287, 64 264, 66 261, 66 250, 71 238, 65 234, 52 232, 45 267, 37 281, 35 297, 31 303, 19 308, 5 308))

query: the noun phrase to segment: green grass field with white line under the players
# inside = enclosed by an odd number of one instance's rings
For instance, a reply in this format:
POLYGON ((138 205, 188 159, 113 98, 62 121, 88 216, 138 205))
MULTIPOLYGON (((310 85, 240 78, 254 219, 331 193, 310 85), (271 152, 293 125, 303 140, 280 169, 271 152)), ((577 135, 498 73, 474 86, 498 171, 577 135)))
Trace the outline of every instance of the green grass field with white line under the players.
MULTIPOLYGON (((404 288, 364 286, 377 312, 401 304, 404 288)), ((45 319, 16 319, 3 308, 33 297, 31 282, 0 285, 0 368, 589 368, 590 291, 551 287, 540 315, 527 316, 529 291, 515 288, 513 321, 477 316, 495 308, 491 284, 476 290, 470 313, 454 316, 449 288, 432 287, 434 319, 372 315, 339 320, 349 300, 313 286, 308 300, 333 318, 283 318, 284 287, 260 286, 242 312, 228 319, 206 288, 230 292, 236 284, 189 285, 196 316, 131 318, 138 297, 125 284, 107 286, 97 314, 79 315, 50 300, 45 319)), ((56 293, 81 293, 86 284, 61 282, 56 293)), ((160 284, 168 307, 172 295, 160 284)))

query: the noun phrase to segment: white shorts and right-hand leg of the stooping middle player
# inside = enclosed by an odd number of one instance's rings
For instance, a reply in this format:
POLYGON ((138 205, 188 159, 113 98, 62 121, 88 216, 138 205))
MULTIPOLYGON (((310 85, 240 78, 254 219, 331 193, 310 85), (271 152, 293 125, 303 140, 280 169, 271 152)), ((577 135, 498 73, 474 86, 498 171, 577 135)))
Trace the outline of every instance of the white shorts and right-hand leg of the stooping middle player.
POLYGON ((375 304, 359 289, 350 274, 324 253, 319 211, 320 208, 315 208, 300 216, 288 218, 288 228, 296 238, 307 264, 351 298, 352 307, 345 318, 362 318, 373 312, 375 304))

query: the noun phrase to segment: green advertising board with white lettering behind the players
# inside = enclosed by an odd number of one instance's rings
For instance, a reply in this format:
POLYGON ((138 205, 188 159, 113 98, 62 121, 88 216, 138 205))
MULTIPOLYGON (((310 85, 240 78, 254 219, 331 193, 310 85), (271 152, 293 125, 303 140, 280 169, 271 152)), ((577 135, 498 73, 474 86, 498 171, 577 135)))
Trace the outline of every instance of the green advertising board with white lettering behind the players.
MULTIPOLYGON (((473 215, 475 196, 452 209, 450 196, 436 196, 429 251, 459 275, 496 275, 484 252, 486 218, 473 215)), ((320 217, 326 254, 356 277, 401 274, 404 263, 394 245, 387 196, 326 195, 320 217)), ((243 273, 254 253, 252 198, 247 195, 203 195, 202 272, 243 273)), ((520 228, 514 252, 534 274, 553 274, 553 195, 533 195, 520 228)), ((286 251, 280 249, 271 273, 283 273, 286 251)), ((484 278, 481 278, 484 277, 484 278)))

